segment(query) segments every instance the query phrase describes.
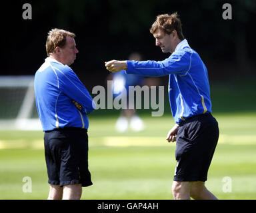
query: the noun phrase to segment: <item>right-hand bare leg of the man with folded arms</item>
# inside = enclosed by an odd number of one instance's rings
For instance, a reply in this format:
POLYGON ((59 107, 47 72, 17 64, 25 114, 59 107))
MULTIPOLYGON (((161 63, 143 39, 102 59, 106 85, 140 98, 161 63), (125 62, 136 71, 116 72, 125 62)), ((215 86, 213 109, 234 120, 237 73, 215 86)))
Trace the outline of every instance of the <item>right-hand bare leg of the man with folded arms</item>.
POLYGON ((81 196, 81 184, 70 184, 63 186, 63 200, 80 200, 81 196))

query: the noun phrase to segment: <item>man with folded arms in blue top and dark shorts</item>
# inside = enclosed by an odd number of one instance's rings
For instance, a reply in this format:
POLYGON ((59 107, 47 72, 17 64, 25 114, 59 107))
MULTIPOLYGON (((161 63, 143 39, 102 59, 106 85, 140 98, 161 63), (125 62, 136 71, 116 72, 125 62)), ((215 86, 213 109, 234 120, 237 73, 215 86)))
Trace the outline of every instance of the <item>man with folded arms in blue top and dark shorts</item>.
POLYGON ((75 34, 52 29, 46 51, 48 57, 35 74, 35 101, 45 132, 48 199, 78 200, 82 186, 92 184, 88 170, 87 114, 96 105, 69 67, 78 53, 75 34))

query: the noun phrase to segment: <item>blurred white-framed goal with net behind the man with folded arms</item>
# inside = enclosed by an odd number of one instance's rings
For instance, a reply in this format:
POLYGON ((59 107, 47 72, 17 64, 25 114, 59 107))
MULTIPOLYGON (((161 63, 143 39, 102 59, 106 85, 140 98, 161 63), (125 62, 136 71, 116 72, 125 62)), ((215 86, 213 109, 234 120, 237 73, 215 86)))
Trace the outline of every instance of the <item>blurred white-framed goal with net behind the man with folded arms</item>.
POLYGON ((42 130, 34 76, 0 76, 0 130, 42 130))

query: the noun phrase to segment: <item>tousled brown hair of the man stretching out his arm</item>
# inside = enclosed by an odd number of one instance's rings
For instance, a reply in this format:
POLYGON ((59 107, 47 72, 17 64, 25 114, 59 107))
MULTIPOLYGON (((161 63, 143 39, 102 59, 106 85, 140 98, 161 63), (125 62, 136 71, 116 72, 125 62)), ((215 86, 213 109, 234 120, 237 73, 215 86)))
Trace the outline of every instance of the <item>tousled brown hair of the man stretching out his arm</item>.
POLYGON ((171 34, 174 30, 177 31, 177 35, 179 39, 183 40, 184 35, 182 33, 181 28, 181 20, 179 19, 179 15, 177 12, 169 14, 162 14, 157 15, 157 19, 153 23, 150 29, 150 33, 155 33, 158 29, 167 33, 168 35, 171 34))

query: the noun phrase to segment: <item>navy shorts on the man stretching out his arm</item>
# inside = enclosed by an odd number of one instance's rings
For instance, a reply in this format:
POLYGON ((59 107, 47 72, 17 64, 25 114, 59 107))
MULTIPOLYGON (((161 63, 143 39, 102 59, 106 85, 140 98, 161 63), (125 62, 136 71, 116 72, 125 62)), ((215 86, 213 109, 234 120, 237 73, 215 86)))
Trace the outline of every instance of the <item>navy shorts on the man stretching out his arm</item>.
POLYGON ((177 166, 173 180, 205 182, 218 139, 218 122, 210 113, 181 122, 176 139, 177 166))

